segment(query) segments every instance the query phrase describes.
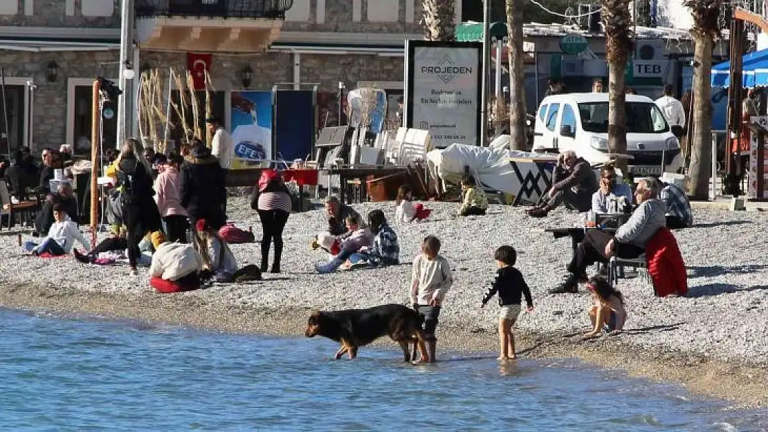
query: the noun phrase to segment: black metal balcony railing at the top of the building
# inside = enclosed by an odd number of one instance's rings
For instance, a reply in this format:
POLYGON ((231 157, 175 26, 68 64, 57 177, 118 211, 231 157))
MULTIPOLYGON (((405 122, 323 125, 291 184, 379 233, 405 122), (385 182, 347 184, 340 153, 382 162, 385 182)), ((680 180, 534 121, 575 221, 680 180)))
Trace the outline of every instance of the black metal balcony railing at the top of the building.
POLYGON ((137 18, 157 16, 284 19, 293 0, 135 0, 137 18))

